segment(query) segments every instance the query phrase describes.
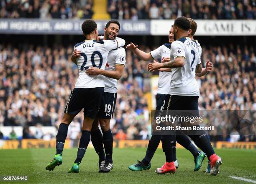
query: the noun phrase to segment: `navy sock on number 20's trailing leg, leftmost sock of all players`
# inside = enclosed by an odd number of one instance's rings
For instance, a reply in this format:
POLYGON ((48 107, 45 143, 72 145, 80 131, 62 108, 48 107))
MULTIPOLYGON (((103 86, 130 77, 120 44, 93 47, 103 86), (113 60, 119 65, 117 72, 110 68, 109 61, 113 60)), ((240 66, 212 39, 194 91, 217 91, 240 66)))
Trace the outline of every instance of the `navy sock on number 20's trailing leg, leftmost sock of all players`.
POLYGON ((56 154, 61 154, 64 148, 65 140, 67 138, 68 125, 61 123, 59 125, 58 133, 56 135, 56 154))

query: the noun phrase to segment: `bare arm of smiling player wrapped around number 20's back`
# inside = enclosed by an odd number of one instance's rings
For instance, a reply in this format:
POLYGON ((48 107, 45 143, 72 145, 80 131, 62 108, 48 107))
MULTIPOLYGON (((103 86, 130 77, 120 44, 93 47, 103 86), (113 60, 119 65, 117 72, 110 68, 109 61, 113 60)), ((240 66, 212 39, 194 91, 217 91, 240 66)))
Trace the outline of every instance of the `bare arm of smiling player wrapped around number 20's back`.
POLYGON ((116 65, 115 66, 115 71, 106 71, 106 70, 99 69, 97 67, 93 67, 93 68, 87 69, 86 74, 88 76, 102 75, 102 76, 106 76, 106 77, 109 77, 109 78, 114 78, 114 79, 119 80, 122 76, 124 67, 125 66, 116 65))

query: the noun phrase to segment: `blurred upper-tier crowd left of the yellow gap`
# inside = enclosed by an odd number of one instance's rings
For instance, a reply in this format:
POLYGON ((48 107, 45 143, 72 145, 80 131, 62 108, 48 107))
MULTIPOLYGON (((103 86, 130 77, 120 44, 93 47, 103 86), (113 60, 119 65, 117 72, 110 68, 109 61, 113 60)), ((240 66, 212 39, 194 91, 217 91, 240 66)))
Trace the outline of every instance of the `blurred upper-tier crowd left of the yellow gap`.
POLYGON ((0 18, 90 19, 92 0, 2 0, 0 18))

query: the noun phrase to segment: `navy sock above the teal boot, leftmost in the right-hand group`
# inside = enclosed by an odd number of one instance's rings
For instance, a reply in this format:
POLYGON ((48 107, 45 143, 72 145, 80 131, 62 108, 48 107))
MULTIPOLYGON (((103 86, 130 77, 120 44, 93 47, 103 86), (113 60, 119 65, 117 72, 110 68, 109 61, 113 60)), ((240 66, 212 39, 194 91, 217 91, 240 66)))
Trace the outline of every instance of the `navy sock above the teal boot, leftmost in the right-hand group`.
POLYGON ((151 137, 151 139, 148 142, 148 148, 146 151, 146 156, 144 157, 144 159, 141 161, 144 165, 148 165, 151 161, 151 159, 153 158, 155 151, 159 145, 161 141, 161 136, 160 135, 153 135, 151 137))

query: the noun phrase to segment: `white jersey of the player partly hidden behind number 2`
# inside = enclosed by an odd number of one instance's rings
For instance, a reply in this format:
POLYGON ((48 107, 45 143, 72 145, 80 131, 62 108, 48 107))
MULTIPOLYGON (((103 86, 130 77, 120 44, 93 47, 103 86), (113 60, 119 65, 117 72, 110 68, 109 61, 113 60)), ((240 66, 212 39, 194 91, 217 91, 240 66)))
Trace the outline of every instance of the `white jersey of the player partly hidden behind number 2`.
MULTIPOLYGON (((156 50, 150 52, 151 57, 153 59, 163 59, 163 58, 170 58, 171 52, 171 44, 165 43, 161 45, 156 50)), ((169 94, 170 91, 170 80, 172 77, 172 72, 159 72, 159 80, 158 80, 158 87, 157 93, 158 94, 169 94)))

